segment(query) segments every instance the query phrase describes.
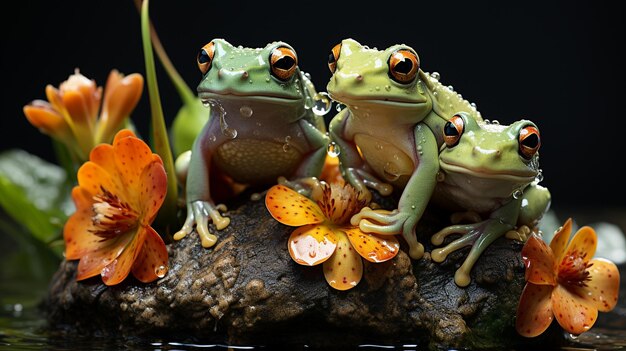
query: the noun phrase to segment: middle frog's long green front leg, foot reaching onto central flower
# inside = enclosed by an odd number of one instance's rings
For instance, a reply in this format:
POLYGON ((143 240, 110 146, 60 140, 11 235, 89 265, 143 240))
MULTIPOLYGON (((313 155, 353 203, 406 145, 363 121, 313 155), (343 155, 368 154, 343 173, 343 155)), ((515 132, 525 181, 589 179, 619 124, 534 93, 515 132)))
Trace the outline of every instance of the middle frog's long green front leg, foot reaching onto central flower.
POLYGON ((424 246, 418 242, 415 226, 422 217, 435 189, 439 158, 437 142, 424 124, 415 128, 416 149, 421 150, 419 162, 402 192, 398 208, 393 211, 363 208, 350 222, 366 233, 402 234, 409 245, 409 255, 419 259, 424 246))

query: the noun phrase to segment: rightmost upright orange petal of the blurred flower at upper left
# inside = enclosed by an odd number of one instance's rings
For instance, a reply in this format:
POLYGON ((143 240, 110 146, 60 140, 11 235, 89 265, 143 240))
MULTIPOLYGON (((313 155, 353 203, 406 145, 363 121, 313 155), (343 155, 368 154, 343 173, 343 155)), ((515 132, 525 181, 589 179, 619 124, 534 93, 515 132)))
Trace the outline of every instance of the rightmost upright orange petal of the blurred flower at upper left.
POLYGON ((98 128, 99 142, 109 142, 113 134, 135 109, 143 91, 143 76, 139 73, 126 77, 113 70, 104 88, 104 100, 98 128))

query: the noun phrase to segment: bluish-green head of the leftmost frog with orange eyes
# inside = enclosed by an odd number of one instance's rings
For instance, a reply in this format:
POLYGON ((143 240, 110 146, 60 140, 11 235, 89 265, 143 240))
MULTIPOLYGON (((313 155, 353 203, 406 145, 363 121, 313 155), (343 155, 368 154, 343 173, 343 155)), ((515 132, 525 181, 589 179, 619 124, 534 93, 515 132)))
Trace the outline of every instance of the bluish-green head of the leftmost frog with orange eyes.
POLYGON ((253 49, 213 39, 202 47, 197 62, 203 75, 198 95, 203 101, 245 99, 279 105, 303 104, 298 56, 284 42, 253 49))

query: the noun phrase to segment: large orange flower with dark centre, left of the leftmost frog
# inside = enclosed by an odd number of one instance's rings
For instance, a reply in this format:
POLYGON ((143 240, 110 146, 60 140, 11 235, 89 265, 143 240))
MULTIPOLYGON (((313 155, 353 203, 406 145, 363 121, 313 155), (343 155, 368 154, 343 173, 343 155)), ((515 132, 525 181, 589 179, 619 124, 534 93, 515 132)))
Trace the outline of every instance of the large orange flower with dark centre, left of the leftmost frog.
POLYGON ((76 212, 65 224, 65 258, 80 259, 77 280, 100 274, 106 285, 130 271, 147 283, 168 269, 167 249, 150 226, 167 191, 161 158, 133 132, 93 149, 72 190, 76 212))

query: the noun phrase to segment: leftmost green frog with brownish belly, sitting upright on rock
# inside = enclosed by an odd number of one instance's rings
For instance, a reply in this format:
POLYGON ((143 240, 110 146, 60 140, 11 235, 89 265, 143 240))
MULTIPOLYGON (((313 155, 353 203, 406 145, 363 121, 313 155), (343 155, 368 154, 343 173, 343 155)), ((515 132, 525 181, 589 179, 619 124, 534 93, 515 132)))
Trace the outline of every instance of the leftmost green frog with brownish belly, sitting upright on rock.
POLYGON ((323 115, 311 108, 319 94, 288 43, 249 48, 215 38, 200 49, 197 64, 198 97, 210 117, 184 155, 188 166, 178 167, 186 174, 187 216, 173 238, 181 240, 195 228, 209 248, 217 242, 209 222, 218 231, 230 224, 226 206, 216 204, 222 188, 212 185, 214 179, 232 189, 270 186, 279 179, 305 184, 319 176, 330 139, 323 115))

